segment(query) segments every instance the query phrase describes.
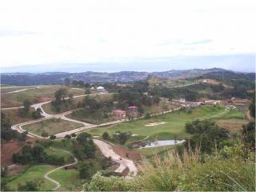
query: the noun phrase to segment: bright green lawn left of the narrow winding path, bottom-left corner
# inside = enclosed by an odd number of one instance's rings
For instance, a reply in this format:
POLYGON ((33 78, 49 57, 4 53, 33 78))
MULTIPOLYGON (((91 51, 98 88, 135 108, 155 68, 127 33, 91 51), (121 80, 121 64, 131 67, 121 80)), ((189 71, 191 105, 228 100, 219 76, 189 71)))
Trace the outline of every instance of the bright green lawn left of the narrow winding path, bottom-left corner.
POLYGON ((40 190, 51 190, 54 188, 55 184, 43 178, 43 175, 46 174, 49 170, 53 170, 55 166, 32 166, 30 169, 26 170, 25 173, 21 174, 18 178, 14 179, 11 182, 7 183, 7 187, 10 190, 17 190, 18 184, 24 185, 26 182, 34 180, 42 180, 42 186, 40 190))

